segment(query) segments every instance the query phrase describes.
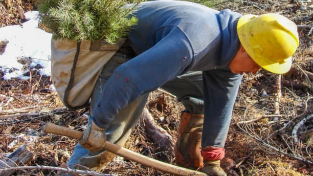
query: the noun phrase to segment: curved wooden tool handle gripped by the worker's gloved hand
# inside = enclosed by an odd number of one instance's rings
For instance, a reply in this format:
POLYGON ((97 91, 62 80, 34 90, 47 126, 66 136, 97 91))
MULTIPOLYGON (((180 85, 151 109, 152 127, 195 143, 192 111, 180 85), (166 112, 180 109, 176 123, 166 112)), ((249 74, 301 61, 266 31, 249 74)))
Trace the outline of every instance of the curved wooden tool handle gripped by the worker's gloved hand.
MULTIPOLYGON (((68 129, 66 127, 62 127, 51 123, 45 124, 44 131, 46 133, 64 135, 75 139, 81 139, 83 136, 83 132, 68 129)), ((152 167, 156 170, 163 171, 165 173, 173 174, 176 176, 208 176, 202 172, 175 166, 162 161, 158 161, 156 159, 150 158, 142 154, 137 154, 131 150, 125 149, 124 147, 121 147, 108 141, 106 141, 103 149, 112 152, 113 154, 117 154, 129 160, 137 162, 139 164, 142 164, 144 166, 152 167)))

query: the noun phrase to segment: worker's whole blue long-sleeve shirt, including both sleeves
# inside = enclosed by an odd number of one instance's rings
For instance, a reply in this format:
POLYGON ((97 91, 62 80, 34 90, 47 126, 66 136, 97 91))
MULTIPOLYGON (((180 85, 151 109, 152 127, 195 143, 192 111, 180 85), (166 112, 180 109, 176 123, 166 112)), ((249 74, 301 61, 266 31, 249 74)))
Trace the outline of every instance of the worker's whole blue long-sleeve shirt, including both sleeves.
MULTIPOLYGON (((139 95, 199 70, 203 71, 205 115, 230 116, 241 76, 232 74, 228 65, 239 48, 236 24, 241 14, 188 1, 158 0, 141 3, 134 15, 138 24, 128 40, 137 56, 114 70, 93 110, 95 122, 110 124, 139 95)), ((227 132, 224 123, 229 122, 222 121, 216 120, 216 128, 227 132)))

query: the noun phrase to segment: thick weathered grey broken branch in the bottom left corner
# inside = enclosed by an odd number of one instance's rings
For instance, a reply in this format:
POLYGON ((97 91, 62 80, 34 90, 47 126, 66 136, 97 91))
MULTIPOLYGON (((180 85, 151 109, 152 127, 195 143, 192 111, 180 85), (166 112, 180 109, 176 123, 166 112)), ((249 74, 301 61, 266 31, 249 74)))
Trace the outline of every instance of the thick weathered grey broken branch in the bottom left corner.
POLYGON ((26 148, 26 145, 19 147, 12 154, 0 161, 0 176, 10 176, 16 171, 14 169, 5 170, 2 168, 24 165, 28 163, 33 156, 34 154, 26 148))

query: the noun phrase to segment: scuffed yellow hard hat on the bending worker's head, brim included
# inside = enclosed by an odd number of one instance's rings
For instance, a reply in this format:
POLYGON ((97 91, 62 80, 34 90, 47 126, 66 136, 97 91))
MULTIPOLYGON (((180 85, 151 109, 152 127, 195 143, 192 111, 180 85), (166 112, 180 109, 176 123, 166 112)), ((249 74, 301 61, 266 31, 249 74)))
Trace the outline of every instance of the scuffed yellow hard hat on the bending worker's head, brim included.
POLYGON ((279 14, 244 15, 237 23, 240 43, 262 68, 283 74, 291 68, 291 55, 299 45, 297 26, 279 14))

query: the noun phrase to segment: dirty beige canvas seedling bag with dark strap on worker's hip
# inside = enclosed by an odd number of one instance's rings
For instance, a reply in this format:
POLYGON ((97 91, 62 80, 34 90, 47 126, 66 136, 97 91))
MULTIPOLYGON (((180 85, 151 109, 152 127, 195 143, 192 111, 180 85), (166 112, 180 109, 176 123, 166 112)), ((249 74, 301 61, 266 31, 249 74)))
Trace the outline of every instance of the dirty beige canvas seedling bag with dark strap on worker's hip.
POLYGON ((103 66, 124 42, 51 40, 51 79, 67 108, 87 105, 103 66))

